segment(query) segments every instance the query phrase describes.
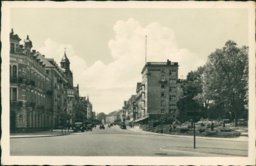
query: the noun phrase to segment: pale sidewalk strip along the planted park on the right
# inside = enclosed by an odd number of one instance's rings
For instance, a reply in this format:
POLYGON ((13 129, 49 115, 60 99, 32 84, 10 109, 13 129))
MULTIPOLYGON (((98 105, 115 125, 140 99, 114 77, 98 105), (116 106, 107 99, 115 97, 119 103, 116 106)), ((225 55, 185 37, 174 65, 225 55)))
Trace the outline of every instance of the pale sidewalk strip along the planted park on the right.
MULTIPOLYGON (((165 137, 179 137, 179 138, 194 138, 194 136, 182 136, 182 135, 174 135, 174 134, 160 134, 154 132, 143 131, 140 128, 130 128, 131 131, 142 133, 142 134, 150 134, 155 136, 165 136, 165 137)), ((240 136, 238 138, 219 138, 219 137, 199 137, 195 136, 196 139, 211 139, 211 140, 219 140, 219 141, 238 141, 238 142, 248 142, 247 136, 240 136)))

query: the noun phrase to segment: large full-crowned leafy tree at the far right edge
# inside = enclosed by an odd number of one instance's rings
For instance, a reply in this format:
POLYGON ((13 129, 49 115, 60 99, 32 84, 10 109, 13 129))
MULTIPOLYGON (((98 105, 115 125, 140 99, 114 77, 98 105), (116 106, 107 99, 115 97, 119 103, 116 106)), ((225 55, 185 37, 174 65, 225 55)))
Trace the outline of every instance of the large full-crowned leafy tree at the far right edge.
POLYGON ((208 57, 204 81, 205 90, 213 94, 215 102, 224 102, 225 107, 233 112, 235 126, 247 105, 248 86, 248 47, 238 48, 233 41, 228 41, 222 49, 216 49, 208 57))

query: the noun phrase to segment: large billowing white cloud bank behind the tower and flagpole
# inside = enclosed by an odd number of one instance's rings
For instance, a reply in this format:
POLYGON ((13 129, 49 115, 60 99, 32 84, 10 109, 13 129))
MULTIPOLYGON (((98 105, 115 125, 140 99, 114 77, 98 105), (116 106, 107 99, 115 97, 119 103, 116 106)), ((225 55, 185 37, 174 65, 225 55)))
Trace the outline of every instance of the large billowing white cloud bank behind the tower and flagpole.
MULTIPOLYGON (((136 93, 136 82, 141 81, 141 70, 145 65, 145 35, 147 35, 147 61, 169 59, 178 62, 179 76, 183 75, 185 78, 189 71, 196 70, 198 66, 205 63, 196 53, 179 48, 174 31, 159 23, 151 23, 142 27, 139 22, 130 18, 126 22, 117 21, 114 31, 116 36, 108 43, 114 61, 108 65, 102 61, 96 61, 87 67, 85 60, 75 54, 72 45, 60 44, 51 39, 47 39, 45 46, 38 50, 47 58, 55 58, 57 62, 60 62, 64 48, 66 48, 71 70, 73 70, 74 85, 78 83, 83 90, 97 94, 97 96, 92 95, 93 98, 90 97, 92 102, 106 101, 106 94, 101 92, 118 88, 120 92, 115 92, 115 94, 120 96, 115 97, 115 100, 109 100, 111 109, 114 109, 113 106, 120 106, 120 103, 122 105, 122 102, 128 99, 124 97, 136 93), (121 91, 121 89, 134 89, 134 91, 121 91)), ((81 91, 81 93, 82 96, 87 94, 86 91, 81 91)), ((111 97, 111 94, 107 96, 111 97)), ((93 107, 97 111, 107 110, 107 105, 93 105, 93 107)), ((114 110, 118 108, 120 107, 114 110)))

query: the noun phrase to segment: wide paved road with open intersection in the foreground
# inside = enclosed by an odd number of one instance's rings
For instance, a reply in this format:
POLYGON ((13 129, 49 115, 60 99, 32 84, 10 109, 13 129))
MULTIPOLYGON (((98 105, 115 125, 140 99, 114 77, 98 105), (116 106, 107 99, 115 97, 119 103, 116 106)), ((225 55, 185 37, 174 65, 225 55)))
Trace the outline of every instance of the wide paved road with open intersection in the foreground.
POLYGON ((141 134, 118 126, 59 137, 10 140, 11 155, 247 156, 248 143, 141 134))

